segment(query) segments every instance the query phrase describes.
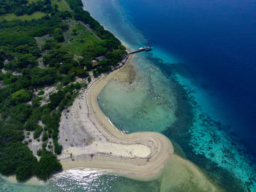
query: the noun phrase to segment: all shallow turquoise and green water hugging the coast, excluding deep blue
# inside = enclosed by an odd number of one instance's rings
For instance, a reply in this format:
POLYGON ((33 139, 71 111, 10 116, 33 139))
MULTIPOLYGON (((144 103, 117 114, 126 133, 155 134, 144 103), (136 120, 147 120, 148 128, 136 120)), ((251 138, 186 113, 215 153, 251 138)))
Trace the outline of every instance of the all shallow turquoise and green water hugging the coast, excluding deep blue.
MULTIPOLYGON (((130 48, 148 44, 145 31, 135 26, 132 12, 120 1, 84 0, 83 3, 94 18, 130 48)), ((227 186, 227 191, 246 191, 246 188, 256 191, 251 156, 246 155, 246 149, 239 145, 238 137, 229 127, 233 126, 232 112, 222 110, 225 103, 197 84, 183 66, 184 58, 159 45, 153 47, 153 52, 133 58, 135 82, 129 85, 112 81, 102 90, 99 94, 102 110, 121 131, 165 134, 215 183, 227 186)), ((12 185, 0 180, 0 191, 160 191, 160 188, 159 180, 145 183, 91 170, 57 174, 44 187, 12 185)))

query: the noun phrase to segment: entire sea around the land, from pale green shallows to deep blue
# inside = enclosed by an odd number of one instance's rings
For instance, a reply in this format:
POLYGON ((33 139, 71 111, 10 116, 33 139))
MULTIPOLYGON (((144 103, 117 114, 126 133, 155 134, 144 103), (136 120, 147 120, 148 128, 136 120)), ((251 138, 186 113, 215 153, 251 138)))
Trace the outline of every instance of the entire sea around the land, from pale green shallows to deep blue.
MULTIPOLYGON (((165 134, 217 185, 256 191, 256 1, 83 5, 130 49, 153 47, 132 58, 135 82, 113 80, 99 94, 112 123, 126 133, 165 134)), ((0 191, 161 191, 161 184, 71 170, 44 187, 0 180, 0 191)))

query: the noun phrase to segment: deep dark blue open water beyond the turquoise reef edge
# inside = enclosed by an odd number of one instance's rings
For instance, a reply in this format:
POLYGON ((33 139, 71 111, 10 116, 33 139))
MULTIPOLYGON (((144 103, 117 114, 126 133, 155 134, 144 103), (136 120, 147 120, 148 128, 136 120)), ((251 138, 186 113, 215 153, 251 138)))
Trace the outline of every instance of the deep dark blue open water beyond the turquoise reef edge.
POLYGON ((153 47, 179 58, 255 156, 256 1, 120 2, 153 47))

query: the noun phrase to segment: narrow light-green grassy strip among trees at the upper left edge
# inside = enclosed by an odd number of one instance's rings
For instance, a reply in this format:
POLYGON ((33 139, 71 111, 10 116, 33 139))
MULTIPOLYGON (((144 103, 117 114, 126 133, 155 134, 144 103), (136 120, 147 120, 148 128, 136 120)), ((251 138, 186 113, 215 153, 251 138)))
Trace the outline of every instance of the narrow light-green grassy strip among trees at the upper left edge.
POLYGON ((32 19, 39 19, 45 16, 45 12, 34 12, 32 15, 20 15, 16 16, 14 13, 6 14, 0 16, 0 21, 2 20, 32 20, 32 19))

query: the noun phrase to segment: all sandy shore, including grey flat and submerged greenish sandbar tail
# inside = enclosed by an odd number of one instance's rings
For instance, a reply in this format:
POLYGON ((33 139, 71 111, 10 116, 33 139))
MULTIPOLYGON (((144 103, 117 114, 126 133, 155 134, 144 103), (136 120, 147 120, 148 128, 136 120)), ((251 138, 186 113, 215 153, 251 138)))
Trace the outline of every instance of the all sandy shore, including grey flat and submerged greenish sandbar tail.
MULTIPOLYGON (((128 62, 129 59, 126 64, 128 62)), ((195 164, 176 155, 172 143, 164 135, 156 132, 123 134, 106 118, 97 102, 98 94, 110 80, 115 80, 113 77, 121 69, 124 67, 94 79, 69 107, 70 112, 62 113, 60 131, 65 130, 63 126, 67 122, 63 122, 63 120, 67 120, 66 115, 68 114, 69 118, 80 120, 80 122, 69 122, 66 128, 77 131, 75 137, 81 136, 82 133, 84 135, 81 139, 90 138, 89 144, 80 143, 84 146, 64 147, 63 152, 59 155, 63 172, 69 169, 103 170, 105 174, 114 174, 140 181, 160 179, 165 185, 179 185, 180 182, 187 185, 191 182, 188 179, 194 178, 193 183, 197 183, 200 188, 208 188, 209 191, 222 191, 211 183, 211 180, 195 164), (92 124, 89 123, 89 120, 92 124), (69 126, 70 124, 72 126, 69 126), (83 128, 84 130, 82 130, 83 128), (73 154, 72 158, 70 158, 70 153, 73 154), (164 169, 165 167, 167 171, 164 169), (168 170, 170 171, 168 172, 168 170), (183 180, 174 179, 177 176, 183 180), (170 178, 173 179, 170 180, 170 178), (166 184, 166 180, 170 180, 170 183, 166 184)), ((61 138, 66 139, 65 137, 61 138)), ((37 180, 36 177, 31 177, 26 183, 18 183, 14 176, 3 178, 13 184, 48 184, 48 182, 37 180)))

